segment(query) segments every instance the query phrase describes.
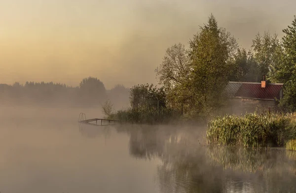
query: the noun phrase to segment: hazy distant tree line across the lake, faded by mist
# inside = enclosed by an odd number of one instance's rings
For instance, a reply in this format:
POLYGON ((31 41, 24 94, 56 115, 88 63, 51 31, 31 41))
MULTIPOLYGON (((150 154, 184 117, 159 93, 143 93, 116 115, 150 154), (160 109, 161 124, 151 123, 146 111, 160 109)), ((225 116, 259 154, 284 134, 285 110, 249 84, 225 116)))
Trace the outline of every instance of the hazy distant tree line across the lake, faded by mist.
POLYGON ((122 85, 108 91, 103 82, 94 77, 84 78, 78 87, 53 82, 26 82, 25 85, 16 82, 0 84, 0 104, 100 106, 110 99, 116 108, 122 108, 129 104, 129 91, 122 85))

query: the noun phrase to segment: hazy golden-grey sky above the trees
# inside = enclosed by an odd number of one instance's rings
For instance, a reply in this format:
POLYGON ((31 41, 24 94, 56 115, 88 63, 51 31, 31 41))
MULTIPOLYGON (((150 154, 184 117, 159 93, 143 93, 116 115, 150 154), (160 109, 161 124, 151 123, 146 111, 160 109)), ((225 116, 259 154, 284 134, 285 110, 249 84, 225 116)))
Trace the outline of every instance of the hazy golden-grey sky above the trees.
POLYGON ((282 30, 295 0, 0 0, 0 83, 78 86, 86 77, 156 84, 165 50, 185 46, 213 13, 241 47, 282 30))

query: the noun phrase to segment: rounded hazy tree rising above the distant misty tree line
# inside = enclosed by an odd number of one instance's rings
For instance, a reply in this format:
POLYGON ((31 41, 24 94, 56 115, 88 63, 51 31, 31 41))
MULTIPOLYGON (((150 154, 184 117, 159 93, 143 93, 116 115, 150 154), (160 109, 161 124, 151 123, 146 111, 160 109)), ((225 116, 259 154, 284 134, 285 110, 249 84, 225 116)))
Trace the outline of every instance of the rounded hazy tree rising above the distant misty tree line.
POLYGON ((86 99, 102 100, 106 98, 104 84, 94 77, 84 78, 79 84, 79 90, 86 99))

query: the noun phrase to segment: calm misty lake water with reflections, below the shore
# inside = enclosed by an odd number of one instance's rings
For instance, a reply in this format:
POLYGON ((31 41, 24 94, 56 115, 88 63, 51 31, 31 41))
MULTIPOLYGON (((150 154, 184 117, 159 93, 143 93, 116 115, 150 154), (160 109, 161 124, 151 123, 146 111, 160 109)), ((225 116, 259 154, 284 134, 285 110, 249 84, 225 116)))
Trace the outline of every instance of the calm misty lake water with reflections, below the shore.
POLYGON ((293 193, 296 152, 205 145, 192 126, 78 124, 80 111, 1 108, 1 193, 293 193))

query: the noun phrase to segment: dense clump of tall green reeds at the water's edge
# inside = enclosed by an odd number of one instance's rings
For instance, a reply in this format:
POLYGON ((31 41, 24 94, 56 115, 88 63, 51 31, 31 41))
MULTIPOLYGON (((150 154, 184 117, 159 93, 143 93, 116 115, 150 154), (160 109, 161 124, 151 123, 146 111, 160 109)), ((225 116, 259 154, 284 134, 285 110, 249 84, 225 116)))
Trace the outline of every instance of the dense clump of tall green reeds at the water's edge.
POLYGON ((295 115, 256 114, 217 117, 208 124, 207 141, 216 145, 283 146, 296 131, 295 115))

